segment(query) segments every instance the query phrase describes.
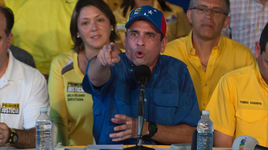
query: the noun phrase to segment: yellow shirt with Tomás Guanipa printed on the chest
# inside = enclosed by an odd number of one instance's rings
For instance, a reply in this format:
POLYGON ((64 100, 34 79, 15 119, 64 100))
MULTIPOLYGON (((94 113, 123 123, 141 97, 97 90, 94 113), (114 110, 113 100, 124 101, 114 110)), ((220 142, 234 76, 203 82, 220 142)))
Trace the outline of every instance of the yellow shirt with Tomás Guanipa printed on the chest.
POLYGON ((268 86, 258 65, 225 74, 206 110, 215 130, 234 138, 250 135, 268 146, 268 86))

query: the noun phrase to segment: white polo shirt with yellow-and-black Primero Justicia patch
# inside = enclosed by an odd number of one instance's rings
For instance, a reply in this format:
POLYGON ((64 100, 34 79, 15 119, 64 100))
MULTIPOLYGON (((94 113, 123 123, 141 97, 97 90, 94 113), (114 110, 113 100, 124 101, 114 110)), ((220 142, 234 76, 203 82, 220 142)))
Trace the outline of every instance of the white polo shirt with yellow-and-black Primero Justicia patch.
POLYGON ((33 128, 40 107, 48 107, 50 112, 47 82, 37 69, 8 52, 8 67, 0 79, 0 122, 10 128, 33 128))

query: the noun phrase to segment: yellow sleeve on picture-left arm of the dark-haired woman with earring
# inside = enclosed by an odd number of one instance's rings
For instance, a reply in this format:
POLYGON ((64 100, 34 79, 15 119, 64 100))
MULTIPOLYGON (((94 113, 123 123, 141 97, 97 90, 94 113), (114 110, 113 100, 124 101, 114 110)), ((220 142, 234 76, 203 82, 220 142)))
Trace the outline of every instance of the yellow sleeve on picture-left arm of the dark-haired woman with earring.
POLYGON ((58 142, 62 142, 64 146, 69 146, 68 117, 61 70, 56 57, 52 60, 48 78, 50 117, 58 125, 58 142))

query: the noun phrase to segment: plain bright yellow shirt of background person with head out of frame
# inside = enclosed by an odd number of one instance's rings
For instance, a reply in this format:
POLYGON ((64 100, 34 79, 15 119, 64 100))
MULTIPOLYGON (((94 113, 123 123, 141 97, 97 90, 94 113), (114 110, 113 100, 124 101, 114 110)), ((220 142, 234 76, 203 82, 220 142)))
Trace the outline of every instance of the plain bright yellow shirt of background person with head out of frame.
POLYGON ((42 74, 52 59, 72 48, 70 22, 77 0, 5 0, 15 23, 12 44, 25 49, 42 74))

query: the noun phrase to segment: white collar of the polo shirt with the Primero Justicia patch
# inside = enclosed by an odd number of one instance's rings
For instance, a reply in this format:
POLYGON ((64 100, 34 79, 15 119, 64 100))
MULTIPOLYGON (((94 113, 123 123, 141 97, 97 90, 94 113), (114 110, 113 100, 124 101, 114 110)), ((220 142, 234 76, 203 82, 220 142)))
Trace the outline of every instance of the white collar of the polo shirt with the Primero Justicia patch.
POLYGON ((18 60, 12 55, 10 49, 8 49, 9 53, 9 63, 5 71, 5 75, 9 81, 16 81, 23 78, 22 68, 18 60))

